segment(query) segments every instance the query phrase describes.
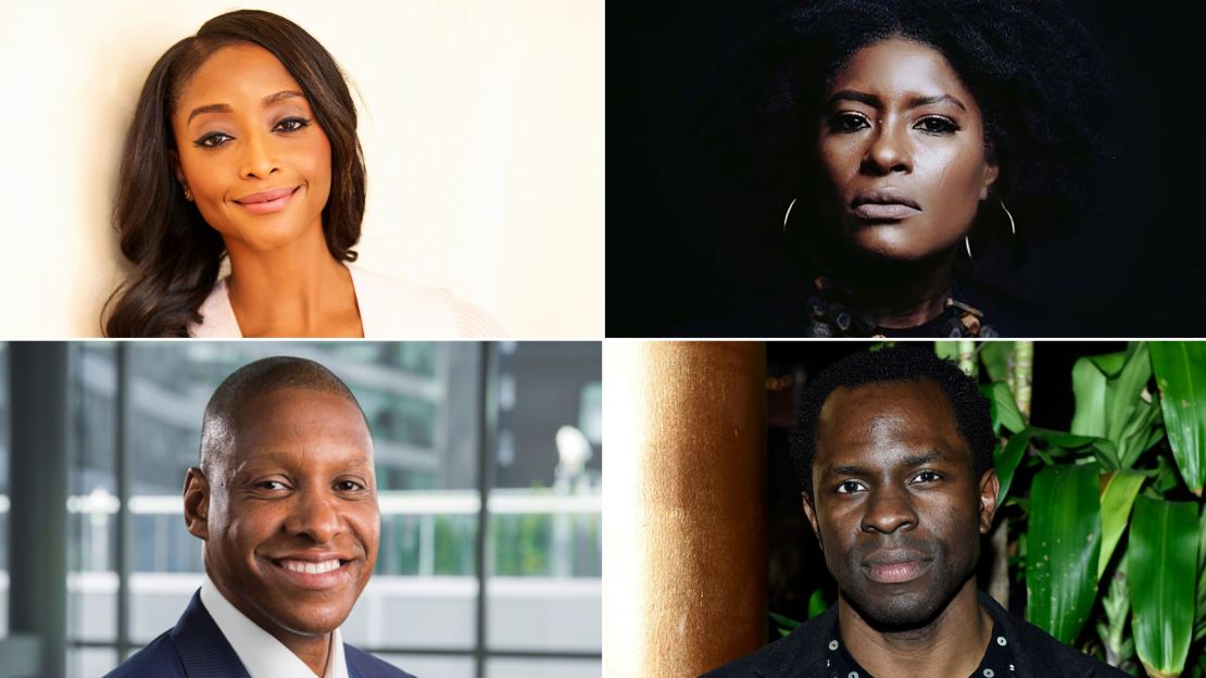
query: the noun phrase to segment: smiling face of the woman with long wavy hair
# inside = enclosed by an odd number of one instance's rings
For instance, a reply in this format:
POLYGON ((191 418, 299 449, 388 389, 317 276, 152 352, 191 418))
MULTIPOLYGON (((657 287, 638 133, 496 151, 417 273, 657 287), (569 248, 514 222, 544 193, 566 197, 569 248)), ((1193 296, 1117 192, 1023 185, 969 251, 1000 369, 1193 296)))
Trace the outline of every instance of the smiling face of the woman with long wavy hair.
POLYGON ((215 52, 185 84, 171 122, 176 176, 228 250, 276 250, 322 230, 330 142, 268 49, 215 52))

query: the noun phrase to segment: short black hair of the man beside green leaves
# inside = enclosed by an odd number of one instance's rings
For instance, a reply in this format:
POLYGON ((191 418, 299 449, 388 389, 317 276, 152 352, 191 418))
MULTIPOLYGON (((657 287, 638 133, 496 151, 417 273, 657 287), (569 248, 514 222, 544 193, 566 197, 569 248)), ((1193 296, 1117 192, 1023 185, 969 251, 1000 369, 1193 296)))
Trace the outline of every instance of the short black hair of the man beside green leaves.
POLYGON ((993 468, 993 415, 988 398, 974 379, 933 351, 917 346, 889 346, 861 351, 821 370, 801 392, 796 422, 791 429, 791 461, 796 478, 809 498, 813 496, 813 458, 821 408, 833 390, 891 381, 932 381, 946 393, 955 413, 955 428, 972 451, 972 468, 979 478, 993 468))

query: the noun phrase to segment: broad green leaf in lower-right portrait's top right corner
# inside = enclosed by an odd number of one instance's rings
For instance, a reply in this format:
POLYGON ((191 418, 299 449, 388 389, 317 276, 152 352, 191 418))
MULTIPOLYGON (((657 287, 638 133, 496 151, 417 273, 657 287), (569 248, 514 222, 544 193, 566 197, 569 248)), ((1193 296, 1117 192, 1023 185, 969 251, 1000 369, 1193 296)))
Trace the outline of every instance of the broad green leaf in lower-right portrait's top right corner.
POLYGON ((1151 352, 1172 456, 1189 491, 1200 497, 1206 481, 1206 344, 1153 341, 1151 352))

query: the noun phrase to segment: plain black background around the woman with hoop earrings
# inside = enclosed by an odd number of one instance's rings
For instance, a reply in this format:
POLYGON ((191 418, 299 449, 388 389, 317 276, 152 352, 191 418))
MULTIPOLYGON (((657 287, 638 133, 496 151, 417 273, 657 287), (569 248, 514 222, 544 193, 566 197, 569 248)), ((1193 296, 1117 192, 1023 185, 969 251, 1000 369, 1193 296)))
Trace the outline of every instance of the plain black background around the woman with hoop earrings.
MULTIPOLYGON (((1096 36, 1122 90, 1118 160, 1102 170, 1101 204, 1085 206, 1097 212, 1091 223, 985 277, 1065 318, 1034 328, 1036 337, 1204 337, 1195 23, 1159 4, 1065 4, 1096 36)), ((718 218, 726 170, 698 131, 726 54, 788 5, 608 8, 608 337, 742 335, 716 321, 789 284, 780 244, 766 235, 788 200, 763 200, 744 223, 718 218)))

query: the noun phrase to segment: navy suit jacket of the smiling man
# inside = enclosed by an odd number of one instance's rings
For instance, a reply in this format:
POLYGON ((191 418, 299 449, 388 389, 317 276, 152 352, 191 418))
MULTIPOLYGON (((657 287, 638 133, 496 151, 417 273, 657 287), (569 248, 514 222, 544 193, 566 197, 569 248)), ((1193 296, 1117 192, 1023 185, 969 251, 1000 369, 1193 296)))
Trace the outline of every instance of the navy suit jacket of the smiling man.
MULTIPOLYGON (((344 643, 351 678, 415 678, 344 643)), ((213 618, 193 594, 176 626, 109 672, 105 678, 247 678, 247 670, 213 618)))

